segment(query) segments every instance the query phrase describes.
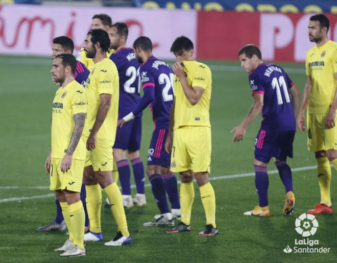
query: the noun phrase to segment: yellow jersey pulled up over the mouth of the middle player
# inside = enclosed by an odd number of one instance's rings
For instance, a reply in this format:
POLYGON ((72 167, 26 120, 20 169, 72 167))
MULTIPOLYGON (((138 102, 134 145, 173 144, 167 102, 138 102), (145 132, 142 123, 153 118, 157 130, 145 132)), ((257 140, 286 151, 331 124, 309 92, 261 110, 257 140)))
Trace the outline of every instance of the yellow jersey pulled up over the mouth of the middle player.
POLYGON ((205 91, 196 105, 191 105, 186 98, 182 85, 174 76, 174 129, 183 126, 210 127, 209 105, 212 91, 212 75, 209 67, 198 61, 183 61, 183 69, 188 85, 201 87, 205 91))

